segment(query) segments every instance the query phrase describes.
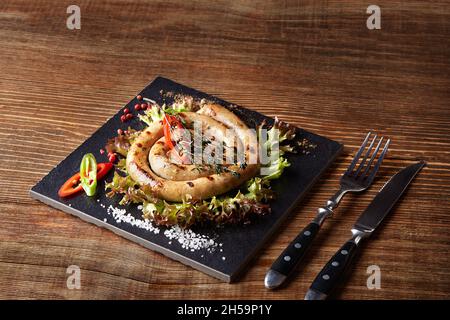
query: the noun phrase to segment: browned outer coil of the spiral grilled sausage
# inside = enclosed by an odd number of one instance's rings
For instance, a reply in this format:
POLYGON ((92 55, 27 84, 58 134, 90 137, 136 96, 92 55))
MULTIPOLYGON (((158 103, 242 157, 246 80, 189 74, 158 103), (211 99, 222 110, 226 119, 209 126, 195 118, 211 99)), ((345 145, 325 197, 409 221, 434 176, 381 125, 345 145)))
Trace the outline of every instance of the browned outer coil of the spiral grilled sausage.
MULTIPOLYGON (((198 115, 207 115, 208 118, 210 117, 222 123, 225 127, 233 129, 244 144, 248 141, 254 142, 256 140, 256 135, 246 132, 248 128, 242 120, 222 106, 204 106, 198 115)), ((181 116, 185 120, 192 120, 191 117, 196 117, 189 112, 181 114, 181 116)), ((257 163, 250 163, 246 166, 229 166, 229 169, 237 172, 238 175, 224 172, 185 181, 165 179, 152 170, 148 160, 152 146, 162 136, 163 125, 161 122, 154 122, 142 131, 128 152, 127 170, 133 180, 141 185, 149 185, 158 197, 167 201, 180 202, 189 198, 200 200, 223 194, 254 177, 259 170, 257 163)), ((254 149, 254 147, 247 147, 247 160, 252 156, 257 156, 258 151, 254 149)))

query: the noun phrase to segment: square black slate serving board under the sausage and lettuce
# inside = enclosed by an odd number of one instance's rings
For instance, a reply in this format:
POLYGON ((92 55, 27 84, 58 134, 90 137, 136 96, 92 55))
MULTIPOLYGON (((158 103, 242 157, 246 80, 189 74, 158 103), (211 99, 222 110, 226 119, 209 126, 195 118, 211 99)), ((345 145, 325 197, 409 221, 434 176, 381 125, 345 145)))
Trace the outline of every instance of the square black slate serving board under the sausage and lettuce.
MULTIPOLYGON (((140 94, 162 103, 161 91, 175 94, 182 93, 199 99, 213 100, 231 108, 251 127, 263 120, 269 123, 273 122, 273 119, 258 112, 231 106, 223 100, 162 77, 156 78, 140 94)), ((135 98, 128 103, 127 107, 131 109, 137 102, 135 98)), ((271 202, 272 213, 258 217, 251 224, 247 225, 194 229, 193 231, 197 234, 213 238, 218 245, 212 252, 206 249, 190 251, 182 248, 176 240, 171 241, 168 239, 164 235, 165 228, 159 228, 159 234, 155 234, 123 221, 117 223, 111 215, 108 215, 107 208, 110 205, 120 207, 118 200, 106 198, 103 191, 98 192, 94 199, 82 194, 69 200, 62 200, 57 195, 59 187, 79 170, 79 164, 84 154, 93 152, 99 162, 105 162, 107 161, 106 156, 100 156, 98 150, 104 147, 108 138, 117 134, 118 128, 126 128, 128 125, 136 129, 143 128, 143 125, 136 118, 126 125, 121 123, 120 115, 122 110, 37 183, 30 191, 31 196, 50 206, 110 229, 129 240, 228 282, 236 279, 239 272, 252 259, 258 249, 266 243, 268 237, 277 229, 282 220, 286 218, 288 213, 296 206, 297 202, 317 181, 318 177, 342 149, 342 145, 335 141, 298 129, 298 139, 306 138, 315 144, 316 148, 312 149, 309 154, 289 156, 291 166, 285 170, 280 179, 272 184, 278 195, 278 198, 271 202)), ((106 180, 110 181, 112 174, 110 172, 106 180)), ((100 182, 99 190, 103 189, 104 182, 100 182)), ((129 206, 126 210, 135 219, 141 219, 140 211, 138 211, 136 206, 129 206)), ((58 230, 55 230, 55 232, 58 232, 58 230)))

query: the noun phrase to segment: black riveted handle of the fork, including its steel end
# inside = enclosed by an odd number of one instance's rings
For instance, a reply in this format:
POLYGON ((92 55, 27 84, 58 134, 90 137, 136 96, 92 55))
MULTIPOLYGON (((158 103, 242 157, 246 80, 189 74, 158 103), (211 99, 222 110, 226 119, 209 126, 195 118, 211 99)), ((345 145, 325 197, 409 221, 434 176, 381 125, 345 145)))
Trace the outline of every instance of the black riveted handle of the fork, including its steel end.
POLYGON ((320 225, 317 222, 311 222, 284 249, 266 275, 267 288, 274 289, 280 286, 292 274, 304 258, 319 229, 320 225))

